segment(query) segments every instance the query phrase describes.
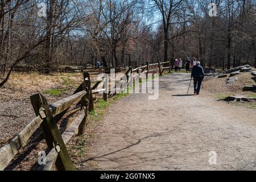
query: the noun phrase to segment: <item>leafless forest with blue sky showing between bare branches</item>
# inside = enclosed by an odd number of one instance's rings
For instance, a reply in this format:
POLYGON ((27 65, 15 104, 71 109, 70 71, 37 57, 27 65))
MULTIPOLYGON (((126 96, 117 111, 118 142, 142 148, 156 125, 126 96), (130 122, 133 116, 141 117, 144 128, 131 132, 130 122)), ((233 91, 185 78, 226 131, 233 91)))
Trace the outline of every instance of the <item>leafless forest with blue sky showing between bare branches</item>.
POLYGON ((256 66, 255 0, 1 0, 0 86, 16 65, 104 67, 181 57, 256 66), (209 16, 209 3, 217 16, 209 16))

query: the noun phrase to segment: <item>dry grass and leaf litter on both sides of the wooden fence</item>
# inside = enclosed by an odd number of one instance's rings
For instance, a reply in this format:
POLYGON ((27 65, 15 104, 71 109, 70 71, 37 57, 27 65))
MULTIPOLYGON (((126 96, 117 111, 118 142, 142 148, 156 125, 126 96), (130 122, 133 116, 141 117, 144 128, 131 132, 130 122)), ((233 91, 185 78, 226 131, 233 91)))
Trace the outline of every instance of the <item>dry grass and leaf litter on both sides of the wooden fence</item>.
MULTIPOLYGON (((81 84, 82 77, 81 73, 56 73, 54 75, 13 73, 6 85, 0 88, 0 147, 35 117, 30 103, 32 94, 43 93, 47 101, 53 103, 70 96, 81 84)), ((95 80, 97 75, 93 75, 91 78, 95 80)), ((98 97, 102 98, 102 96, 98 97)), ((109 103, 118 98, 119 96, 109 99, 109 103)), ((102 101, 99 103, 95 105, 96 111, 89 114, 86 134, 82 137, 73 137, 68 143, 68 151, 76 169, 88 169, 94 165, 93 163, 89 166, 88 164, 82 165, 82 160, 91 146, 91 138, 94 133, 91 125, 96 121, 96 115, 97 118, 101 117, 104 114, 105 106, 108 106, 102 101)), ((73 118, 76 117, 76 114, 70 117, 72 113, 73 111, 70 111, 65 115, 64 119, 60 121, 61 125, 67 122, 68 126, 72 122, 73 118)), ((34 164, 38 158, 38 151, 47 148, 42 136, 37 138, 33 137, 28 146, 15 156, 14 163, 7 170, 36 169, 34 164)))

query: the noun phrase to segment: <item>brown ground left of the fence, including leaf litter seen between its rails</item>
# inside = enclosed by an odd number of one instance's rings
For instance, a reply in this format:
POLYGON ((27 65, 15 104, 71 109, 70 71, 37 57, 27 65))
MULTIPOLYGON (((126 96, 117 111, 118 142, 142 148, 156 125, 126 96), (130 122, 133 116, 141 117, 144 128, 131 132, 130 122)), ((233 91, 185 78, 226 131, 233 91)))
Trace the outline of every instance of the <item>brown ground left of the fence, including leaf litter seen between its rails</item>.
MULTIPOLYGON (((37 92, 43 93, 51 89, 64 89, 60 96, 44 94, 49 104, 70 96, 81 84, 79 73, 56 73, 55 75, 39 75, 38 73, 13 73, 10 80, 0 88, 0 147, 4 146, 15 134, 19 133, 27 123, 35 118, 30 102, 30 96, 37 92)), ((72 112, 60 123, 64 130, 73 117, 72 112)), ((15 156, 7 170, 30 170, 34 165, 38 152, 46 150, 47 146, 40 131, 36 131, 27 147, 15 156)), ((73 141, 72 141, 73 142, 73 141)), ((73 143, 76 143, 73 142, 73 143)), ((69 147, 69 146, 68 146, 69 147)))

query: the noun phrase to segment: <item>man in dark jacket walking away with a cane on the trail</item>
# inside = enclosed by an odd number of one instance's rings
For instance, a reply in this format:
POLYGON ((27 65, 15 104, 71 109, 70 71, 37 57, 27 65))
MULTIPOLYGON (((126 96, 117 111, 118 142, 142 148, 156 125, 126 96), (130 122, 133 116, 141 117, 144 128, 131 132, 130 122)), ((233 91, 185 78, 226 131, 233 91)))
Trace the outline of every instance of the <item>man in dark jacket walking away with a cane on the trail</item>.
POLYGON ((204 80, 204 69, 200 66, 199 61, 197 61, 196 65, 192 69, 191 78, 194 78, 194 93, 199 95, 201 84, 204 80))

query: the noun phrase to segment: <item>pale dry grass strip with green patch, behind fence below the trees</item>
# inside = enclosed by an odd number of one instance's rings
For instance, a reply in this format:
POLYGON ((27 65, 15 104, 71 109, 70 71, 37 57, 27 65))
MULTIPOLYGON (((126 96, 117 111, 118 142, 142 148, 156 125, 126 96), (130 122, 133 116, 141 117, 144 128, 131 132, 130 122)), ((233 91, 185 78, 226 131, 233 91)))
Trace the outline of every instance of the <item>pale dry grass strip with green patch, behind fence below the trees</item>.
POLYGON ((7 83, 0 88, 0 100, 24 100, 34 93, 45 93, 51 89, 72 90, 81 84, 80 73, 12 73, 7 83))

